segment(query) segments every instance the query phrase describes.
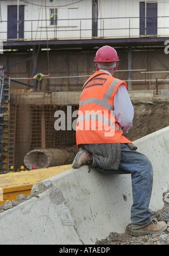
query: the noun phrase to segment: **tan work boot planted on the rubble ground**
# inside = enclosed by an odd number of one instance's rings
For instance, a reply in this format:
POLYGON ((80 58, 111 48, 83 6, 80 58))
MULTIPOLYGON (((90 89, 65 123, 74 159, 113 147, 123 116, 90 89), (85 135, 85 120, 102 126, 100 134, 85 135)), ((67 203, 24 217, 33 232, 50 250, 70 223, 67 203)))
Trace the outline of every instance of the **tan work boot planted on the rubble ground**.
POLYGON ((166 231, 167 224, 164 221, 153 220, 149 225, 140 229, 131 229, 132 236, 145 236, 145 234, 161 233, 166 231))

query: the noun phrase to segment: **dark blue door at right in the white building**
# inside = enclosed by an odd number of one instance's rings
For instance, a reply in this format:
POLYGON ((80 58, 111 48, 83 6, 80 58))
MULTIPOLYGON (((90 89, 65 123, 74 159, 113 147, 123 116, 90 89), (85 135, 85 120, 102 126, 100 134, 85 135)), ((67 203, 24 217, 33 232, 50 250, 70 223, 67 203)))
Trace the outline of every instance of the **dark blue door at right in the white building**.
POLYGON ((140 2, 140 36, 157 35, 157 3, 140 2))

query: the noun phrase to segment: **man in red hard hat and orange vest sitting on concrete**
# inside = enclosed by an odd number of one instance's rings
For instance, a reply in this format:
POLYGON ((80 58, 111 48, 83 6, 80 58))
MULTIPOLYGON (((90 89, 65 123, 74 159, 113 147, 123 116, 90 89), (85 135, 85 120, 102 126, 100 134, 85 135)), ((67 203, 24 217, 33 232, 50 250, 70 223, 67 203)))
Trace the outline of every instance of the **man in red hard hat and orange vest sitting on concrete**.
POLYGON ((132 236, 166 231, 166 223, 152 220, 149 210, 152 164, 126 138, 132 126, 134 108, 127 83, 113 76, 118 68, 117 52, 110 46, 103 46, 97 51, 94 61, 97 72, 86 81, 79 99, 76 128, 79 152, 72 167, 89 165, 107 174, 131 173, 132 236))

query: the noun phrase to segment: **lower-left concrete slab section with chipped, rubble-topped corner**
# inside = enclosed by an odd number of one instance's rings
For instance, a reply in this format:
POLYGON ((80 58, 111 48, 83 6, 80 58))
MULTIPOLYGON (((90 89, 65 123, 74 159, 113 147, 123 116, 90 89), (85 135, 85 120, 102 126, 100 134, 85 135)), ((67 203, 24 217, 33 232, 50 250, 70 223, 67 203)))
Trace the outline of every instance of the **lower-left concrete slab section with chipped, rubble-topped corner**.
POLYGON ((63 194, 50 187, 1 213, 1 245, 82 244, 63 194))

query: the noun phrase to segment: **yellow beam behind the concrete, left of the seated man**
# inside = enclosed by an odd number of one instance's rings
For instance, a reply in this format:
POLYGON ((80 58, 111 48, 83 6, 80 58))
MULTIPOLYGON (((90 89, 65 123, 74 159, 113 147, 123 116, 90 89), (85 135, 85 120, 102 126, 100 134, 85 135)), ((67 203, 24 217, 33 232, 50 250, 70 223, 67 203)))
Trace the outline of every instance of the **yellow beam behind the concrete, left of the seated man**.
POLYGON ((70 168, 72 168, 71 165, 62 165, 59 167, 0 175, 0 188, 3 191, 3 195, 0 197, 0 205, 4 204, 6 200, 16 201, 16 197, 19 194, 29 195, 34 184, 70 168), (3 201, 1 201, 2 199, 3 201))

